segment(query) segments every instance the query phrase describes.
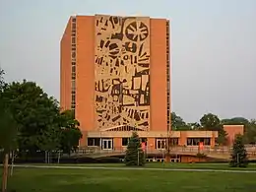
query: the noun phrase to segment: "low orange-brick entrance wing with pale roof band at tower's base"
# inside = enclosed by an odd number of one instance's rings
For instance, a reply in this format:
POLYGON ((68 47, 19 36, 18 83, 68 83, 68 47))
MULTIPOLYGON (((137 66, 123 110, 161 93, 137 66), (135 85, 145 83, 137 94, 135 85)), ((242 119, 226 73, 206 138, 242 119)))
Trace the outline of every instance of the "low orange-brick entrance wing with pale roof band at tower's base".
MULTIPOLYGON (((170 140, 171 146, 198 147, 202 143, 204 147, 214 148, 218 132, 216 131, 171 131, 144 132, 137 131, 141 141, 145 143, 148 152, 165 150, 166 141, 170 140)), ((87 135, 87 146, 97 147, 101 150, 125 151, 132 131, 91 131, 87 135)))

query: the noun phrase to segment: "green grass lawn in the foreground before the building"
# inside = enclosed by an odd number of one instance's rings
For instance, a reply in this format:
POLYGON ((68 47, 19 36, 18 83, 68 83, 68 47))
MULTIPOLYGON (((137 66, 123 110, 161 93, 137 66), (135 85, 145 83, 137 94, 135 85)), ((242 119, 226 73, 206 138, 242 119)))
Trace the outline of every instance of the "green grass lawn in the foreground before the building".
MULTIPOLYGON (((150 163, 148 166, 156 167, 157 165, 160 167, 160 163, 150 163)), ((190 164, 176 164, 175 168, 181 165, 183 167, 190 166, 190 164)), ((197 168, 202 168, 206 165, 199 164, 197 168)), ((174 165, 172 166, 174 167, 174 165)), ((17 192, 255 192, 255 178, 256 173, 253 172, 227 173, 16 167, 14 176, 9 180, 9 189, 16 189, 17 192)))

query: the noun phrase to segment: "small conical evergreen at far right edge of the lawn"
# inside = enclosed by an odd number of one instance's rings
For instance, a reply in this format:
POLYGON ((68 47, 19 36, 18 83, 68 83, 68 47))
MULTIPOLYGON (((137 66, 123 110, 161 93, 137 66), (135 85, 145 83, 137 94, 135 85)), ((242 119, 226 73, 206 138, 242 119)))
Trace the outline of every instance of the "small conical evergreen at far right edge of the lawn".
POLYGON ((243 137, 240 134, 235 136, 229 165, 232 167, 246 167, 248 165, 247 152, 243 137))

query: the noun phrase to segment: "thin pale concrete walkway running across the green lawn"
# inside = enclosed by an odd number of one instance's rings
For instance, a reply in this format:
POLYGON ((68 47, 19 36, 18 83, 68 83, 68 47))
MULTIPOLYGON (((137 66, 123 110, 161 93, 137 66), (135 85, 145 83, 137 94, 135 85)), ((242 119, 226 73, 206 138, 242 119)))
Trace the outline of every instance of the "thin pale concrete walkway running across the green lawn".
POLYGON ((187 172, 233 172, 256 173, 256 170, 231 170, 231 169, 193 169, 193 168, 147 168, 147 167, 106 167, 106 166, 67 166, 67 165, 32 165, 15 164, 14 167, 23 168, 57 168, 57 169, 105 169, 105 170, 163 170, 163 171, 187 171, 187 172))

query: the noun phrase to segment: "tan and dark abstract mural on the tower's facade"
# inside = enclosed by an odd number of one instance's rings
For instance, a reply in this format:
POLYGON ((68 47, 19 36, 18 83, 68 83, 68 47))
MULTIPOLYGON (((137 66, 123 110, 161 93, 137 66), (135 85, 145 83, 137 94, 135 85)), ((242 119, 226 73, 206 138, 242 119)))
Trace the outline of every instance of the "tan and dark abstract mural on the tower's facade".
POLYGON ((150 18, 96 15, 96 127, 150 126, 150 18))

